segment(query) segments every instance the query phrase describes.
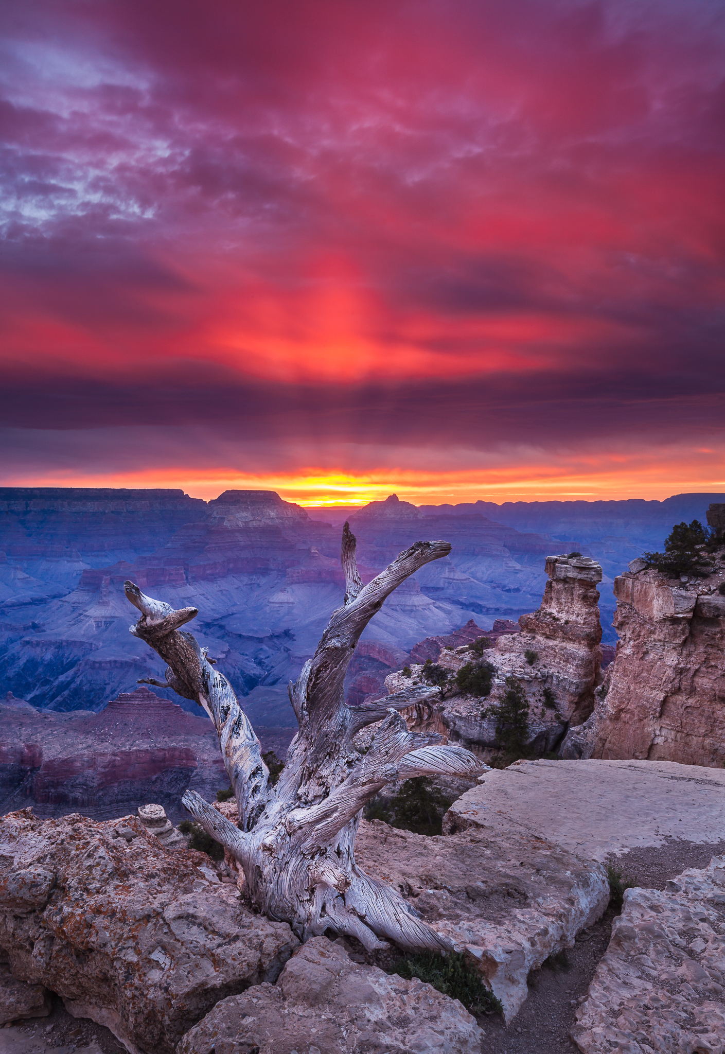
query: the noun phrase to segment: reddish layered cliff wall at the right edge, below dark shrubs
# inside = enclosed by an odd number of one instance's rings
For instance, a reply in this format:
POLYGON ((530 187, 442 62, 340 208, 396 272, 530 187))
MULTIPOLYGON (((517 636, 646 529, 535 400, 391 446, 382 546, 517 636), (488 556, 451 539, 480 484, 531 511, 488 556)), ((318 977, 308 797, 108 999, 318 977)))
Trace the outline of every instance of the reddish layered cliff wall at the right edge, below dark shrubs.
POLYGON ((706 578, 631 569, 614 580, 620 633, 606 697, 566 757, 725 763, 725 548, 706 578))

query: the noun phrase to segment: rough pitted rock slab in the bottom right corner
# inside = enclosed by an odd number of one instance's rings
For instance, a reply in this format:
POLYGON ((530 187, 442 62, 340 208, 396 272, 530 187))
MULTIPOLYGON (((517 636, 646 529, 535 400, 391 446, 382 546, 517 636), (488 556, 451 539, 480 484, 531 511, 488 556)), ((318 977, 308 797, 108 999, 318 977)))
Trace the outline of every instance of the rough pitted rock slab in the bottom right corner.
POLYGON ((725 857, 625 893, 571 1036, 584 1054, 723 1054, 725 857))

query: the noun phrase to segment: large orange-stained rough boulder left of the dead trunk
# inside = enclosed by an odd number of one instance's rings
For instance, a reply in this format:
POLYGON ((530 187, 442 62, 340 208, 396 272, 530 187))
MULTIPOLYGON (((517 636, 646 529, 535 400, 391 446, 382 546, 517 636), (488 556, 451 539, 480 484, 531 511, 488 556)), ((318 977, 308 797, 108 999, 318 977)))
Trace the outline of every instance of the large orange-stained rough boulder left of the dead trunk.
POLYGON ((172 1054, 219 999, 273 981, 298 941, 252 915, 209 858, 170 852, 138 817, 30 808, 0 820, 0 949, 132 1054, 172 1054))

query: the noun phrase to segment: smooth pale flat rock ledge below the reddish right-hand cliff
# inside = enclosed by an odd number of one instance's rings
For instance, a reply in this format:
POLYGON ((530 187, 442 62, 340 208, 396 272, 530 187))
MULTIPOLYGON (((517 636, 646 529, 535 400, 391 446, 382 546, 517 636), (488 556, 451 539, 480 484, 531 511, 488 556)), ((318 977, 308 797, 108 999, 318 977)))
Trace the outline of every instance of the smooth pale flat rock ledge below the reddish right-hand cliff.
POLYGON ((606 860, 669 838, 725 838, 725 770, 675 761, 520 761, 492 769, 451 805, 445 829, 490 824, 606 860))

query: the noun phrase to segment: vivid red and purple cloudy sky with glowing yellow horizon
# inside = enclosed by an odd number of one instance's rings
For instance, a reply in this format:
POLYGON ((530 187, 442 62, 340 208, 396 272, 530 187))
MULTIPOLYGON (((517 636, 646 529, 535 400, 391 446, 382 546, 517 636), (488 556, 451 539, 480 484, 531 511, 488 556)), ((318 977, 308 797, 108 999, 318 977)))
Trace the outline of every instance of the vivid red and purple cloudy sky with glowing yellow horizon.
POLYGON ((5 0, 0 485, 725 489, 713 0, 5 0))

